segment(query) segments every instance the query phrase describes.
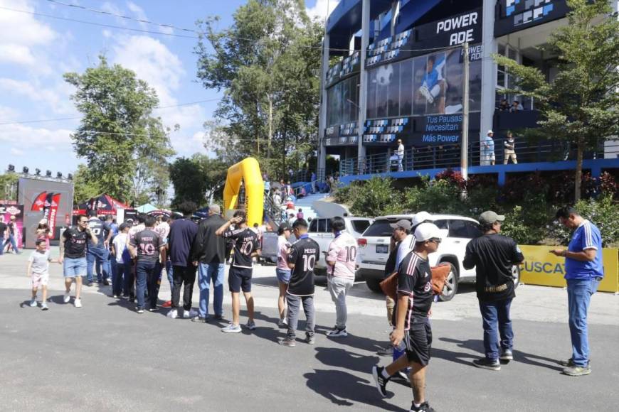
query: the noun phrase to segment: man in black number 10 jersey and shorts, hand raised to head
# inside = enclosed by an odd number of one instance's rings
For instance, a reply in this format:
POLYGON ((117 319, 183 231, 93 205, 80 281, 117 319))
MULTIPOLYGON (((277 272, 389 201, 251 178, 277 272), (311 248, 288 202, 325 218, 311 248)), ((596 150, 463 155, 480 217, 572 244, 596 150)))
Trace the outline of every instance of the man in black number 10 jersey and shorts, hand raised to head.
POLYGON ((233 218, 221 225, 215 232, 217 236, 234 241, 234 254, 232 265, 228 271, 228 286, 232 293, 232 323, 223 327, 221 332, 239 333, 239 313, 240 299, 238 294, 243 291, 245 303, 247 305, 247 327, 249 330, 255 329, 253 320, 253 297, 251 296, 251 274, 253 268, 253 258, 260 256, 260 242, 258 234, 247 226, 247 215, 243 210, 234 212, 233 218), (230 229, 234 224, 236 229, 230 229))

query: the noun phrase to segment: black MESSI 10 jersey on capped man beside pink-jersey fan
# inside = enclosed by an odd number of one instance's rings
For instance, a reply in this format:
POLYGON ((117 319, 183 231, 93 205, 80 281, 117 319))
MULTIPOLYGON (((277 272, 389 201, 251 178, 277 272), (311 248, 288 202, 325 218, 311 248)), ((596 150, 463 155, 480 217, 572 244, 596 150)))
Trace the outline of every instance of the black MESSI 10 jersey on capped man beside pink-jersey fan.
POLYGON ((290 246, 288 263, 294 264, 290 274, 288 291, 294 296, 310 296, 314 294, 314 266, 320 255, 320 246, 307 235, 302 235, 290 246))

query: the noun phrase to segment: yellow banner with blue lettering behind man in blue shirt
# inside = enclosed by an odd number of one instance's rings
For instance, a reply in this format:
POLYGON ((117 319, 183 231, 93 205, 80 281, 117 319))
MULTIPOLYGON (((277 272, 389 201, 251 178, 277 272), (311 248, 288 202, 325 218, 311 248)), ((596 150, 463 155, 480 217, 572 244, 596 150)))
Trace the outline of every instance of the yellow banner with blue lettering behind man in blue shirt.
MULTIPOLYGON (((520 266, 520 280, 523 283, 566 287, 565 258, 550 253, 551 250, 557 249, 557 246, 519 247, 524 254, 524 264, 520 266)), ((602 258, 604 278, 598 291, 619 292, 619 249, 603 249, 602 258)))

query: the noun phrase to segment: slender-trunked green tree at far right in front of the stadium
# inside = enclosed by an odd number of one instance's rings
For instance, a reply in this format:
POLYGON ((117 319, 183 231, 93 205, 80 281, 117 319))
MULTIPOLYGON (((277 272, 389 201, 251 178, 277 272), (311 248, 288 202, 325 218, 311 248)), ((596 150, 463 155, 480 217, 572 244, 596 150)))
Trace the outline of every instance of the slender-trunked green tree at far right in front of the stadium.
POLYGON ((545 51, 556 55, 553 82, 536 67, 504 56, 494 60, 514 74, 515 88, 502 93, 533 97, 541 112, 529 136, 576 144, 574 197, 581 197, 583 153, 619 135, 619 21, 607 0, 567 0, 568 24, 557 28, 545 51))

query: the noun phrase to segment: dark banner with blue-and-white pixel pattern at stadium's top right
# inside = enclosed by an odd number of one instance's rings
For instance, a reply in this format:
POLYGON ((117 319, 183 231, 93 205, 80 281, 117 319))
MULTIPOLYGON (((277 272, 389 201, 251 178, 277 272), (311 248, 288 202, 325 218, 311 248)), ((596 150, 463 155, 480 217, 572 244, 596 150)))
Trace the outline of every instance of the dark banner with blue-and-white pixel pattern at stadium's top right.
POLYGON ((565 0, 499 0, 494 37, 562 18, 569 8, 565 0))

